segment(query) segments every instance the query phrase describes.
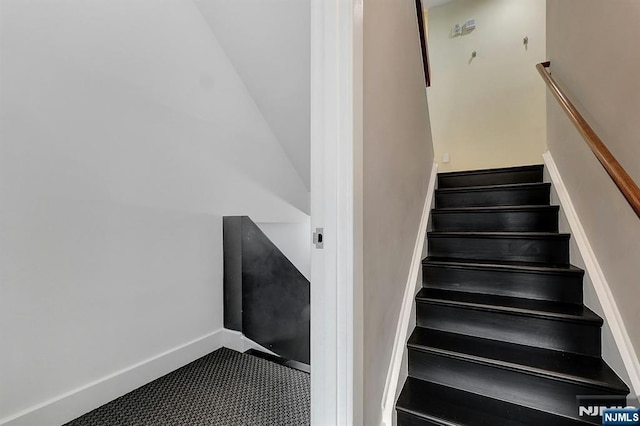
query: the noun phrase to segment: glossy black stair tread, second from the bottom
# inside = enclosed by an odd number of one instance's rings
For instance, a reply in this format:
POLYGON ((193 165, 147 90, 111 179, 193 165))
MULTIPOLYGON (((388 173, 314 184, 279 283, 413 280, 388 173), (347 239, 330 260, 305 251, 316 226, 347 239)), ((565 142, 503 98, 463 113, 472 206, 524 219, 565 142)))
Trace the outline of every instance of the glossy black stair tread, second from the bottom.
POLYGON ((629 388, 600 358, 416 327, 408 347, 470 362, 627 394, 629 388))

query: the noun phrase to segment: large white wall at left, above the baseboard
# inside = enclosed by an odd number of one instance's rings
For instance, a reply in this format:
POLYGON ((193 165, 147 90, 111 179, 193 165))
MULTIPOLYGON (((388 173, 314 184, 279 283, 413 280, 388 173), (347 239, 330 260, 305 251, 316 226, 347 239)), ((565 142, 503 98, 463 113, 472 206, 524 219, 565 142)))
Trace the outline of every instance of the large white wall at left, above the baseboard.
POLYGON ((309 193, 191 1, 0 7, 2 423, 221 328, 221 216, 309 193))

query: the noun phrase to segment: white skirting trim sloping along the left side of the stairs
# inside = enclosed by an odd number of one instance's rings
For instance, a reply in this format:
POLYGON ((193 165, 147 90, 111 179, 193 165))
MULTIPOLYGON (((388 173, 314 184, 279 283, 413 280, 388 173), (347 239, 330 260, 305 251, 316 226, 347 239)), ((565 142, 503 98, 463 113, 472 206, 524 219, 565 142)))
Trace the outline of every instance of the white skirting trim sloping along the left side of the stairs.
POLYGON ((433 202, 433 195, 435 192, 437 177, 438 166, 436 163, 433 163, 433 167, 431 169, 431 177, 429 178, 429 185, 427 187, 427 196, 424 200, 424 207, 422 208, 422 218, 420 220, 418 235, 416 236, 416 243, 413 249, 411 268, 409 270, 409 276, 407 277, 407 283, 404 288, 404 297, 402 299, 400 315, 398 316, 396 336, 393 342, 393 351, 391 352, 389 368, 387 370, 387 379, 384 385, 384 393, 382 394, 381 424, 384 426, 391 426, 393 424, 393 410, 395 405, 396 391, 398 388, 398 378, 400 376, 402 357, 404 355, 405 346, 407 344, 409 330, 412 328, 412 324, 409 324, 409 319, 411 318, 411 307, 416 295, 418 273, 420 272, 420 267, 422 265, 422 250, 424 248, 424 241, 426 237, 425 234, 427 232, 427 224, 429 223, 429 213, 431 212, 431 205, 433 202))

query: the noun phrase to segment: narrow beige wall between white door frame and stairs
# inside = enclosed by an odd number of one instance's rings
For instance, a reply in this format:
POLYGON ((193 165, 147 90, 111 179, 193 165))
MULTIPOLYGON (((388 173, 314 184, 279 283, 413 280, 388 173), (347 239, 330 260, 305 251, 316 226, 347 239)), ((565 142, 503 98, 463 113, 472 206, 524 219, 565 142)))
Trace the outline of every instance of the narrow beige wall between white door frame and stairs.
POLYGON ((415 3, 364 3, 364 422, 385 379, 433 166, 415 3))

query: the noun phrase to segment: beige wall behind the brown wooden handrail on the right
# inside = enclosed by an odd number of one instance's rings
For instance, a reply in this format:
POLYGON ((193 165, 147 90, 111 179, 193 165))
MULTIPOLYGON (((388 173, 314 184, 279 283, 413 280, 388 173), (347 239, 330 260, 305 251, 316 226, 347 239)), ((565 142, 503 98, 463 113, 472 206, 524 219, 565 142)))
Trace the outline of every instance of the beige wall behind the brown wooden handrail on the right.
MULTIPOLYGON (((553 76, 636 182, 640 182, 640 51, 630 41, 637 39, 638 18, 640 3, 635 0, 547 3, 547 50, 553 76)), ((640 219, 550 94, 547 122, 549 151, 637 353, 640 219)), ((587 304, 599 312, 593 292, 585 296, 587 304)), ((605 355, 607 351, 605 345, 605 355)), ((619 364, 615 357, 609 359, 614 367, 619 364)))

